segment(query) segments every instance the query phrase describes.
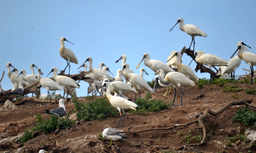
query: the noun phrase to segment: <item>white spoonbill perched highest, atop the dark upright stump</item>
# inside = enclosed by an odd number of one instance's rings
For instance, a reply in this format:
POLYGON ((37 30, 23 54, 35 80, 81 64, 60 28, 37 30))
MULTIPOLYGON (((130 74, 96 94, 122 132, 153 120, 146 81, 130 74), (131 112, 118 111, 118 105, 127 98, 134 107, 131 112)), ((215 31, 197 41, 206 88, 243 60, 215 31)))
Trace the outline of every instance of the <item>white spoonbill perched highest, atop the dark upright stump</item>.
MULTIPOLYGON (((180 30, 186 32, 187 34, 189 34, 192 37, 192 41, 190 43, 190 46, 192 45, 192 42, 194 40, 194 48, 193 51, 195 51, 195 36, 203 36, 203 37, 207 37, 207 34, 204 33, 204 31, 202 31, 200 28, 198 28, 197 26, 194 25, 190 25, 190 24, 186 24, 183 26, 184 24, 184 20, 182 18, 179 18, 177 23, 170 29, 170 31, 172 31, 172 29, 178 24, 180 23, 180 30)), ((190 46, 189 46, 189 50, 190 50, 190 46)))

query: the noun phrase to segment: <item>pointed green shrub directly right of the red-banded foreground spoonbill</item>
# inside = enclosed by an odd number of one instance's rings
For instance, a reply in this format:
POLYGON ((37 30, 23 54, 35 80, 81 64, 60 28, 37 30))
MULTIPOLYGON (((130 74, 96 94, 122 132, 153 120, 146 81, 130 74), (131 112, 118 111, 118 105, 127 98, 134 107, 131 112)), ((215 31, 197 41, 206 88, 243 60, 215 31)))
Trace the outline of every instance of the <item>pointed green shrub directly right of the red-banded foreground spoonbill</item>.
POLYGON ((137 112, 132 110, 132 113, 158 112, 170 105, 170 103, 163 102, 161 99, 152 99, 150 91, 147 91, 145 98, 137 98, 135 103, 138 105, 137 112))

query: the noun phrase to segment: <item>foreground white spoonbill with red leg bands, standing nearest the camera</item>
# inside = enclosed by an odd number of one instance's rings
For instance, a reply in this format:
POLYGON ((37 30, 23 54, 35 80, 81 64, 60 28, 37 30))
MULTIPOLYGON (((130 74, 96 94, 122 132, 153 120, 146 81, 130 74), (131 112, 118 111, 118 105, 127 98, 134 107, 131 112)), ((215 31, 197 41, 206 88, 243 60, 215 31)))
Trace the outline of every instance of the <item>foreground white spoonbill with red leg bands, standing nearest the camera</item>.
MULTIPOLYGON (((128 71, 128 70, 127 70, 128 71)), ((119 97, 119 96, 112 96, 111 95, 111 90, 113 91, 113 86, 109 83, 109 82, 105 82, 104 85, 102 87, 106 87, 107 88, 107 98, 108 98, 108 101, 111 103, 111 105, 116 108, 118 111, 119 111, 119 114, 120 114, 120 119, 119 119, 119 122, 118 124, 116 125, 116 127, 121 127, 123 126, 123 123, 124 123, 124 120, 125 120, 125 111, 124 110, 135 110, 136 111, 136 107, 138 106, 137 104, 135 104, 134 102, 131 102, 127 99, 124 99, 122 97, 119 97), (123 121, 122 121, 122 125, 119 125, 121 119, 122 119, 122 113, 121 113, 121 110, 124 114, 124 118, 123 118, 123 121)), ((101 88, 102 88, 101 87, 101 88)), ((99 90, 99 89, 98 89, 99 90)))

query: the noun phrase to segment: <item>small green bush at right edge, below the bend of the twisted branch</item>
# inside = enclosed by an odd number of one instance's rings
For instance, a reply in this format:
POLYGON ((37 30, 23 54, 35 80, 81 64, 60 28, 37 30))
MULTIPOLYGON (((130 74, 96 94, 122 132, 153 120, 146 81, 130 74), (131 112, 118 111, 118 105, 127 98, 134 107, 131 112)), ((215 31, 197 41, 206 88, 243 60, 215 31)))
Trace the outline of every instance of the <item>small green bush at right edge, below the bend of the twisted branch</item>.
POLYGON ((254 111, 249 111, 248 106, 243 109, 239 109, 234 115, 233 120, 235 122, 242 122, 244 126, 253 125, 256 122, 256 113, 254 111))

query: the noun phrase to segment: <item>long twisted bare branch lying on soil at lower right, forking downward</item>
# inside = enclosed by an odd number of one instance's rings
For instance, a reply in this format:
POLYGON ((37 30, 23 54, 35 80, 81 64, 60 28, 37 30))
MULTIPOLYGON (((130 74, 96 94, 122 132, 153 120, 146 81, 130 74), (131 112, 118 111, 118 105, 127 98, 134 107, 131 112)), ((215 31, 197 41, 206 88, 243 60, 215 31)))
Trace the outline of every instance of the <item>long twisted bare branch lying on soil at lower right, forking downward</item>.
POLYGON ((146 131, 170 130, 170 129, 175 129, 175 127, 188 127, 189 125, 192 125, 192 124, 198 122, 199 123, 199 127, 197 127, 197 129, 203 129, 203 133, 204 133, 204 137, 201 140, 201 142, 198 143, 198 144, 187 144, 187 145, 184 145, 182 147, 175 148, 175 149, 179 150, 179 149, 182 149, 182 148, 185 148, 185 147, 189 147, 189 146, 199 146, 199 145, 202 145, 202 144, 206 143, 205 139, 206 139, 207 133, 206 133, 206 129, 205 129, 205 126, 204 126, 204 123, 203 123, 203 119, 207 118, 208 113, 210 115, 216 116, 216 115, 224 112, 225 110, 227 110, 228 108, 230 108, 233 105, 247 105, 247 106, 250 106, 252 108, 256 108, 256 106, 251 105, 252 101, 253 101, 253 99, 241 99, 241 100, 238 100, 238 101, 229 102, 227 105, 223 106, 218 111, 212 111, 210 108, 207 108, 204 111, 203 115, 199 116, 198 119, 196 119, 195 121, 186 123, 186 124, 174 125, 172 127, 165 127, 165 128, 146 129, 146 130, 140 130, 140 131, 135 131, 135 132, 131 132, 130 131, 130 129, 132 127, 134 127, 134 126, 131 126, 131 127, 128 127, 128 131, 124 131, 124 132, 120 132, 120 133, 136 134, 136 133, 142 133, 142 132, 146 132, 146 131))

